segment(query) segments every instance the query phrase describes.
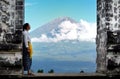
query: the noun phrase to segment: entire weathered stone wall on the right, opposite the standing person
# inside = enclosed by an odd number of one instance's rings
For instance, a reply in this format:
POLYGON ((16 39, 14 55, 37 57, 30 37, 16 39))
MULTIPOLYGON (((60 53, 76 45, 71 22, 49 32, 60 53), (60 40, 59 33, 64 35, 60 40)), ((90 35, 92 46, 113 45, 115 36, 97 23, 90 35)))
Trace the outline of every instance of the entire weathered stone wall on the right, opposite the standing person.
POLYGON ((120 71, 120 0, 97 0, 97 72, 120 71))

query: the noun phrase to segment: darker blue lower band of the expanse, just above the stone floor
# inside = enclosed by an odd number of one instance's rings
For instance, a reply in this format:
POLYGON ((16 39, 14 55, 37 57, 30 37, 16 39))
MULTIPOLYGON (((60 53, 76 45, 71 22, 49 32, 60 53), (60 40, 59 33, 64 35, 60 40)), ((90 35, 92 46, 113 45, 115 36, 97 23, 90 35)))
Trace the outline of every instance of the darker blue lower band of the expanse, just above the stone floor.
POLYGON ((43 69, 45 73, 48 73, 51 69, 53 69, 55 73, 79 73, 81 70, 89 73, 95 72, 96 64, 80 61, 37 60, 34 58, 32 70, 37 72, 38 69, 43 69))

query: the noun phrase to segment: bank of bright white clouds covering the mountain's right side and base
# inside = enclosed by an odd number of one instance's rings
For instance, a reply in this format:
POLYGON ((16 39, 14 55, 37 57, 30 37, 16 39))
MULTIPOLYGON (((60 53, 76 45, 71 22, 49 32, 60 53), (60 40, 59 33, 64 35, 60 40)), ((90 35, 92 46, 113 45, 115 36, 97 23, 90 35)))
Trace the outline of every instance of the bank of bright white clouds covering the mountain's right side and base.
POLYGON ((55 29, 51 31, 53 38, 42 34, 39 38, 32 38, 32 42, 58 42, 62 40, 95 42, 96 23, 89 23, 85 20, 80 20, 79 23, 72 23, 66 20, 58 26, 58 29, 58 32, 55 29))

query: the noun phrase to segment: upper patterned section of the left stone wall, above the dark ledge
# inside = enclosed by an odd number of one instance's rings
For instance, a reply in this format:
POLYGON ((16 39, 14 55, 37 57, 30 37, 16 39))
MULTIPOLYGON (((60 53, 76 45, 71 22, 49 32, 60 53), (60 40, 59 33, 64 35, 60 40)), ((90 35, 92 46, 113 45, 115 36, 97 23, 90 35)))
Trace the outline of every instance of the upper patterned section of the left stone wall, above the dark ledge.
MULTIPOLYGON (((24 0, 0 1, 0 44, 20 44, 24 23, 24 0)), ((3 46, 0 45, 0 50, 3 46)), ((6 48, 7 49, 7 48, 6 48)))

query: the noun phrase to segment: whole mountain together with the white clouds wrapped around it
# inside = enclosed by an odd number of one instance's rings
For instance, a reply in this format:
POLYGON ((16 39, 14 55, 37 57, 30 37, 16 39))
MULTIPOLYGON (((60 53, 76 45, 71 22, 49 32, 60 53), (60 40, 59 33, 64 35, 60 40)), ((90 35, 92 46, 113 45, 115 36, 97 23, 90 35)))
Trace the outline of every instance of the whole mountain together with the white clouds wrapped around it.
POLYGON ((96 24, 80 20, 76 22, 69 17, 57 18, 38 28, 33 33, 32 41, 58 42, 61 40, 95 41, 96 24), (44 29, 44 32, 43 32, 44 29))

